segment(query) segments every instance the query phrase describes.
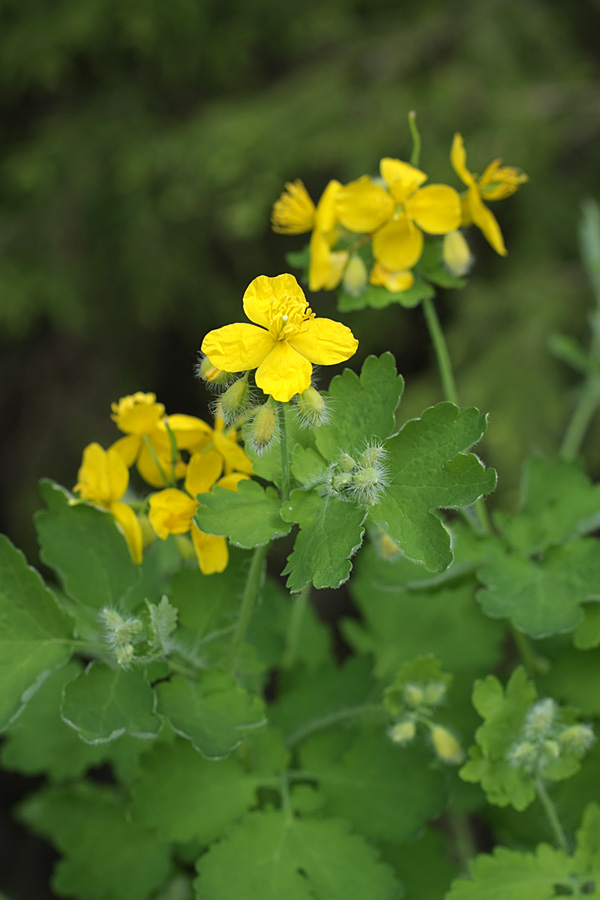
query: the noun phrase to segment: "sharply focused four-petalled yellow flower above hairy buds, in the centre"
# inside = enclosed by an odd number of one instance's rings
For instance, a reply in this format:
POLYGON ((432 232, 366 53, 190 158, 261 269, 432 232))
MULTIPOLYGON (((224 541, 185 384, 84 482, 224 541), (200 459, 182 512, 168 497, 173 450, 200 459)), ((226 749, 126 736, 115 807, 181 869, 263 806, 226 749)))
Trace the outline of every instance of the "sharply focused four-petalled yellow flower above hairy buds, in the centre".
POLYGON ((312 364, 349 359, 358 341, 349 328, 317 319, 293 275, 259 275, 243 297, 251 322, 209 332, 202 352, 227 372, 256 369, 256 384, 275 400, 287 402, 310 385, 312 364))

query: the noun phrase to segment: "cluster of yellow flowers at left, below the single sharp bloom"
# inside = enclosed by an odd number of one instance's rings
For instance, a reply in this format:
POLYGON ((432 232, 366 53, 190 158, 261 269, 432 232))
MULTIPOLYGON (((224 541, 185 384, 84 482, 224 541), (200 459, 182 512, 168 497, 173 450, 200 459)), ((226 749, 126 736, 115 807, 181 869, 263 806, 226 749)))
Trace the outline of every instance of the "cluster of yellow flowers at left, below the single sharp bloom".
POLYGON ((201 571, 222 572, 228 562, 225 538, 204 534, 193 517, 198 494, 217 484, 235 490, 252 473, 235 428, 227 428, 221 415, 214 428, 195 416, 166 415, 155 394, 142 392, 113 403, 112 419, 124 437, 108 450, 97 443, 85 448, 75 492, 114 516, 136 563, 142 561, 147 515, 150 541, 189 534, 201 571), (161 490, 129 504, 123 498, 134 465, 147 484, 161 490))

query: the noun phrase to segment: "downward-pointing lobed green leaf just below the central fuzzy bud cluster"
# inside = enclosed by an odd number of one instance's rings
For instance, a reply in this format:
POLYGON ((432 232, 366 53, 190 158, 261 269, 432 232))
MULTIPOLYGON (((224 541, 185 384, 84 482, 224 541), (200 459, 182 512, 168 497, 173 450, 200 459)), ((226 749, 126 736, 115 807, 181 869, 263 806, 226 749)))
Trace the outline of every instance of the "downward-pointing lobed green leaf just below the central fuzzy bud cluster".
POLYGON ((282 575, 287 587, 301 591, 311 581, 316 588, 337 588, 347 581, 352 557, 362 543, 365 510, 351 501, 338 500, 317 491, 292 491, 281 507, 288 522, 300 531, 282 575))

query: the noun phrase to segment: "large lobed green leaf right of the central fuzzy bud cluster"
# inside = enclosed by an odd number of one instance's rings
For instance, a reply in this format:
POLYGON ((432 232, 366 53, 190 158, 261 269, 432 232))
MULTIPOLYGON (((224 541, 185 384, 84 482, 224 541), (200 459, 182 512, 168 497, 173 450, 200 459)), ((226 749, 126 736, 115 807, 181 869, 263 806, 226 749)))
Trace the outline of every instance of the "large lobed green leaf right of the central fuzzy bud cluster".
POLYGON ((486 418, 438 403, 386 442, 389 486, 369 513, 409 559, 440 572, 452 562, 450 537, 434 514, 474 503, 493 490, 496 473, 465 454, 482 436, 486 418))

